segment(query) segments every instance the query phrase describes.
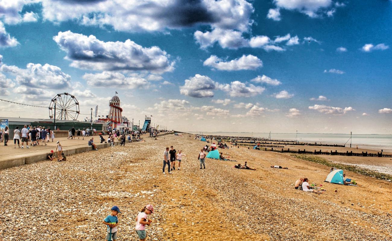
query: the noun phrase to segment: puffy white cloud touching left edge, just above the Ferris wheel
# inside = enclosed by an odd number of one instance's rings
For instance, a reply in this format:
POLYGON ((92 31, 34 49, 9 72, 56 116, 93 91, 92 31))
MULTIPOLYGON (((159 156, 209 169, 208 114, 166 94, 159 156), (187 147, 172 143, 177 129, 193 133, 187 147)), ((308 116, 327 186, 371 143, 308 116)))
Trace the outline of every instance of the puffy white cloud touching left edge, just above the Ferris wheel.
POLYGON ((71 86, 71 76, 57 66, 45 63, 28 63, 26 69, 14 65, 1 65, 0 70, 15 76, 20 85, 44 89, 64 89, 71 86))

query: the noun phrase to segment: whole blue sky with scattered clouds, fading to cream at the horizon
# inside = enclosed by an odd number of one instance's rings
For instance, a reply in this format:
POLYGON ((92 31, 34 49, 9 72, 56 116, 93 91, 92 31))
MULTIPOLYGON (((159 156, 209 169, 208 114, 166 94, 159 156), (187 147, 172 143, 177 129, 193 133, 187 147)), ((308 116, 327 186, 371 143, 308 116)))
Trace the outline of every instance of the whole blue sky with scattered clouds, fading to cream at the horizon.
POLYGON ((0 19, 5 100, 107 114, 117 91, 173 129, 391 133, 390 0, 17 0, 0 19))

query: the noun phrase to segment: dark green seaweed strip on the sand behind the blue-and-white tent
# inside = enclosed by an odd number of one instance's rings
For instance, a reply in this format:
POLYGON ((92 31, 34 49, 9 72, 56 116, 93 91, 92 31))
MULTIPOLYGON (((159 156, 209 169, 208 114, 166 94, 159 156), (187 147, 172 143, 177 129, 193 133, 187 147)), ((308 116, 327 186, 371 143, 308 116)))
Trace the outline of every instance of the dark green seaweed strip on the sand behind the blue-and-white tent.
POLYGON ((368 169, 364 169, 364 168, 359 168, 356 166, 352 166, 352 165, 345 165, 345 164, 341 164, 341 163, 334 163, 331 161, 327 161, 327 159, 318 157, 318 156, 310 156, 310 155, 304 155, 304 154, 290 154, 290 156, 294 157, 294 158, 298 158, 298 159, 302 159, 305 161, 312 161, 318 164, 322 164, 322 165, 326 165, 328 167, 336 167, 337 169, 342 169, 342 170, 348 170, 351 172, 355 172, 358 174, 362 174, 365 176, 370 176, 370 177, 374 177, 377 179, 384 179, 384 180, 388 180, 391 181, 392 180, 392 176, 388 175, 388 174, 384 174, 384 173, 380 173, 380 172, 374 172, 372 170, 368 170, 368 169))

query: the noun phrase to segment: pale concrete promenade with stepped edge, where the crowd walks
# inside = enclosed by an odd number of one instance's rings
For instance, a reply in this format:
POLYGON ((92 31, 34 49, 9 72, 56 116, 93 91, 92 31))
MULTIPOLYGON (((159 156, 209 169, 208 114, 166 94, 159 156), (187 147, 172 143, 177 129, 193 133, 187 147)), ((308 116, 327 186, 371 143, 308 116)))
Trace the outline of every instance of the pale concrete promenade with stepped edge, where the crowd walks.
MULTIPOLYGON (((159 136, 162 136, 163 134, 160 134, 159 136)), ((15 149, 13 140, 8 141, 8 146, 4 146, 4 142, 0 143, 0 170, 47 160, 47 156, 51 150, 56 152, 57 141, 60 141, 65 156, 90 151, 92 150, 92 147, 88 145, 88 141, 92 137, 94 138, 94 144, 97 145, 97 149, 110 147, 109 143, 100 143, 99 136, 85 137, 84 140, 82 140, 82 137, 80 137, 80 139, 76 137, 76 139, 73 140, 67 139, 66 137, 60 137, 55 138, 53 142, 52 140, 49 140, 49 142, 46 142, 47 145, 42 141, 40 142, 40 145, 36 145, 35 147, 29 145, 28 149, 26 148, 26 143, 24 144, 24 149, 18 148, 18 144, 16 144, 15 149)), ((107 140, 108 135, 103 137, 107 140)), ((143 134, 141 138, 150 139, 148 133, 143 134)), ((150 140, 154 139, 151 138, 150 140)), ((115 145, 120 145, 120 141, 115 141, 115 145)), ((127 140, 125 145, 131 145, 131 143, 127 140)))

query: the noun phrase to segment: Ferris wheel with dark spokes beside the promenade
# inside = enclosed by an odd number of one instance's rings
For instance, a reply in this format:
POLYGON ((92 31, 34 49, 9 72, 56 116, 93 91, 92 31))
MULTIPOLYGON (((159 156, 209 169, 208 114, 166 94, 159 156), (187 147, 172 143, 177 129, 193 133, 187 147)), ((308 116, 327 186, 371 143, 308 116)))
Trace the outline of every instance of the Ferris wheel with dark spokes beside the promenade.
POLYGON ((68 93, 57 94, 49 105, 49 118, 56 120, 76 120, 79 115, 79 102, 68 93))

